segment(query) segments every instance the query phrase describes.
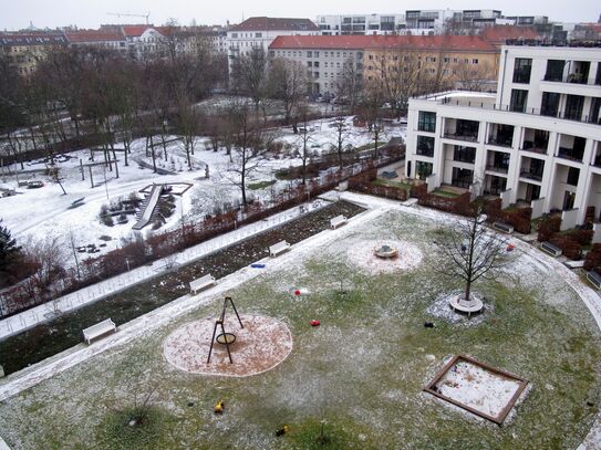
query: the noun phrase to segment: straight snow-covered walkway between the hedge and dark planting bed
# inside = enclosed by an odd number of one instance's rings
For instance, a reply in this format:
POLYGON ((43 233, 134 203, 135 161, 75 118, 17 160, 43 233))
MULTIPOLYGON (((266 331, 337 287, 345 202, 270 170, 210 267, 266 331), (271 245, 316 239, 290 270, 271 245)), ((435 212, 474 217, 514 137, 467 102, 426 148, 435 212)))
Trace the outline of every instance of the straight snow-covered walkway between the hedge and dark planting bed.
MULTIPOLYGON (((327 192, 320 196, 321 199, 335 200, 338 199, 338 192, 327 192)), ((245 227, 240 227, 235 231, 221 234, 217 238, 210 239, 198 245, 190 247, 185 251, 177 253, 175 264, 184 265, 191 261, 206 257, 225 247, 229 247, 236 242, 248 239, 252 236, 259 234, 266 230, 278 227, 290 220, 297 219, 300 216, 308 213, 315 209, 321 209, 328 206, 328 201, 318 200, 302 205, 304 212, 301 212, 300 207, 288 209, 283 212, 271 216, 265 220, 260 220, 255 223, 250 223, 245 227)), ((86 305, 87 303, 95 302, 104 296, 114 294, 124 289, 131 287, 134 284, 147 281, 152 278, 163 274, 168 266, 174 264, 172 257, 163 260, 155 261, 152 265, 143 265, 141 268, 131 270, 121 275, 107 279, 97 284, 81 289, 69 295, 56 299, 55 301, 45 303, 43 305, 35 306, 33 308, 23 311, 22 313, 7 317, 0 321, 0 339, 8 336, 19 334, 25 329, 29 329, 39 323, 46 322, 56 316, 56 311, 64 313, 71 310, 75 310, 86 305)))

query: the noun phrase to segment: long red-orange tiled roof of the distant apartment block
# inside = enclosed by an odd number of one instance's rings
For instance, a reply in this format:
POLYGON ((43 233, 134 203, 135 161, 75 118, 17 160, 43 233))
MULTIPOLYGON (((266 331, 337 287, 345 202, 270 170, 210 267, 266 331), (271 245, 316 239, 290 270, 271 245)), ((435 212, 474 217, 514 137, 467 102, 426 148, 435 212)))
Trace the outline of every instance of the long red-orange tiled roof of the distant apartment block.
POLYGON ((497 51, 481 38, 469 35, 291 35, 276 38, 269 49, 497 51))

